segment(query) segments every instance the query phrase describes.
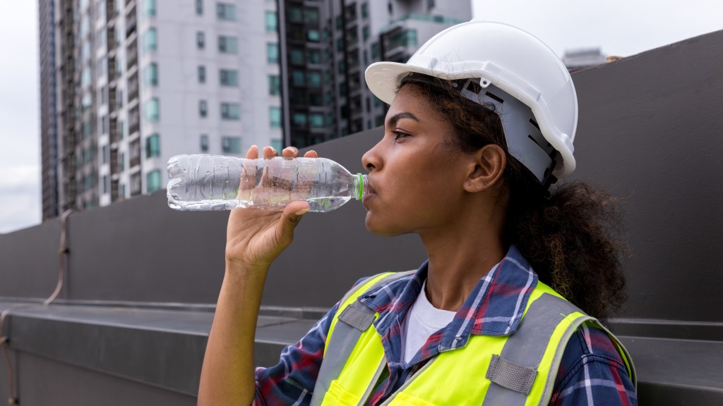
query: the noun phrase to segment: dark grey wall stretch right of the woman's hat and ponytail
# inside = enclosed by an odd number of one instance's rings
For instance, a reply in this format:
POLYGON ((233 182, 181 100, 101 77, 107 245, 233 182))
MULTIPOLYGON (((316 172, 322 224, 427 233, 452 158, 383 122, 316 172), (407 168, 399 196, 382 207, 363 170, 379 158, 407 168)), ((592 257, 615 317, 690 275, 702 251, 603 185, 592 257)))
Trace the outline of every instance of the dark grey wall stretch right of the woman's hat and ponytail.
POLYGON ((625 197, 635 318, 723 321, 723 32, 573 74, 577 178, 625 197))

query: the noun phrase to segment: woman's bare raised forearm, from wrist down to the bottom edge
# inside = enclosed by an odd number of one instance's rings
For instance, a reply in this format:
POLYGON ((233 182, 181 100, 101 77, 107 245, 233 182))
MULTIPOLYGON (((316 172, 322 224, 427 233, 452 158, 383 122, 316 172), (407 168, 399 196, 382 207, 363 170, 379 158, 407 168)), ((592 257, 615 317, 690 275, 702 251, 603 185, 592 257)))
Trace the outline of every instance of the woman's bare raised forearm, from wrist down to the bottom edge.
POLYGON ((254 335, 268 269, 227 261, 203 360, 199 405, 250 405, 254 335))

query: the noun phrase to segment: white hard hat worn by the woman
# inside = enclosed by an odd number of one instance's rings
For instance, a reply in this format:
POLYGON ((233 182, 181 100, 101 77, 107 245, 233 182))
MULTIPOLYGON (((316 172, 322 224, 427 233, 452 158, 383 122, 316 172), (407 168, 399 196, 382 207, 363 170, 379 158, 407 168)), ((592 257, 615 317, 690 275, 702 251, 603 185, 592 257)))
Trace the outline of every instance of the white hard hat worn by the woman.
POLYGON ((499 22, 463 22, 432 37, 406 64, 370 65, 365 78, 369 90, 391 104, 410 73, 479 80, 479 86, 465 82, 462 94, 495 104, 513 157, 542 183, 550 173, 562 178, 575 170, 573 80, 557 55, 533 35, 499 22))

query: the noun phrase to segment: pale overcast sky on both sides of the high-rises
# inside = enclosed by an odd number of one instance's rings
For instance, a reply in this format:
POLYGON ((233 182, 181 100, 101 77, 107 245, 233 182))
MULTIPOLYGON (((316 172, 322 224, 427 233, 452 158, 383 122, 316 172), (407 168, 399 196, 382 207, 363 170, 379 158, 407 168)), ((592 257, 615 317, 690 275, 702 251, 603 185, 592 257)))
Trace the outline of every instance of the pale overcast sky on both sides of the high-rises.
MULTIPOLYGON (((595 47, 606 55, 630 56, 723 30, 719 0, 472 4, 474 17, 521 27, 560 56, 568 49, 595 47)), ((0 0, 0 233, 40 223, 37 8, 37 0, 0 0)))

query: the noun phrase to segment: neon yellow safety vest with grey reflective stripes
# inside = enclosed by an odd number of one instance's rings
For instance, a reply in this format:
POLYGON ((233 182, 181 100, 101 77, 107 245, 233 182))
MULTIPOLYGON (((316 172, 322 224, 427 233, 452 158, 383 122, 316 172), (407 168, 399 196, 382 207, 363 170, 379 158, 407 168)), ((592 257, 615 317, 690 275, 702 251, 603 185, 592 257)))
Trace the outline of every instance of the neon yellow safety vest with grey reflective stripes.
MULTIPOLYGON (((343 299, 330 327, 312 406, 366 402, 386 362, 381 337, 369 328, 379 314, 356 298, 405 275, 409 272, 377 275, 343 299)), ((635 385, 630 355, 617 338, 538 282, 514 334, 472 335, 464 349, 448 350, 427 361, 382 405, 547 405, 565 345, 584 321, 607 332, 635 385)))

